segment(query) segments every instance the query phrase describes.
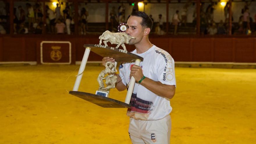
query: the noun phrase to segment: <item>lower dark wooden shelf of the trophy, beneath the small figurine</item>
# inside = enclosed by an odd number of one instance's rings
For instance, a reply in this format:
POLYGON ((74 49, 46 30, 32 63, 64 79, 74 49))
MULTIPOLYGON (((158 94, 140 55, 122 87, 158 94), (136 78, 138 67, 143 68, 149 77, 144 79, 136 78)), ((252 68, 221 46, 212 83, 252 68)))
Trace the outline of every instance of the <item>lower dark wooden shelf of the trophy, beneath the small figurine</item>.
POLYGON ((93 104, 97 104, 98 106, 104 108, 130 108, 131 105, 126 104, 124 102, 111 99, 109 97, 104 97, 101 95, 95 95, 92 93, 78 92, 78 91, 69 91, 71 95, 84 99, 93 104))

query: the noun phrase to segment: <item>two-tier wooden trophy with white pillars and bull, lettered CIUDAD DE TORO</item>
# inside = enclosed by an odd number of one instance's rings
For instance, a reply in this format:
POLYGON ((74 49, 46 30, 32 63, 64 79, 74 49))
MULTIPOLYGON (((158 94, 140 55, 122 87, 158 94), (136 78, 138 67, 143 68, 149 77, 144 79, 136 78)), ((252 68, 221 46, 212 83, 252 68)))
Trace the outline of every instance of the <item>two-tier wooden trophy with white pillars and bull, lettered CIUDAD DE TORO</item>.
POLYGON ((131 95, 135 84, 134 77, 131 77, 131 80, 129 82, 125 102, 109 98, 110 89, 115 88, 115 83, 117 82, 117 76, 114 75, 114 73, 117 72, 117 63, 130 63, 131 61, 135 60, 135 65, 140 65, 141 61, 143 61, 142 57, 132 54, 126 50, 125 43, 129 44, 129 41, 131 39, 135 39, 129 36, 127 33, 125 33, 126 24, 120 24, 118 26, 118 31, 119 33, 105 31, 101 36, 99 36, 99 44, 86 44, 83 46, 86 49, 83 55, 83 59, 78 71, 78 75, 73 90, 69 92, 70 94, 105 108, 131 107, 129 103, 131 100, 131 95), (102 40, 104 45, 101 45, 102 40), (109 47, 107 45, 107 42, 110 42, 111 44, 115 44, 117 46, 115 48, 109 47), (123 49, 118 49, 120 46, 123 49), (102 70, 102 72, 99 73, 99 76, 97 78, 97 81, 99 83, 99 89, 96 90, 95 94, 78 91, 90 51, 93 51, 94 53, 102 57, 112 57, 115 59, 114 63, 106 62, 105 70, 102 70))

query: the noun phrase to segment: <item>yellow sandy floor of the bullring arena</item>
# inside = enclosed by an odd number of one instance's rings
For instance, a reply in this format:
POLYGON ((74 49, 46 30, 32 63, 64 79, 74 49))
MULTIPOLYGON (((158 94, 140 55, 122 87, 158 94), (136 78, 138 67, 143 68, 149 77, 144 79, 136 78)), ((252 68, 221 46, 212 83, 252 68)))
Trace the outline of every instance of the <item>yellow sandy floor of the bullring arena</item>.
MULTIPOLYGON (((0 143, 131 143, 126 109, 102 108, 68 94, 77 67, 0 66, 0 143)), ((88 65, 79 91, 95 93, 103 69, 88 65)), ((177 67, 176 79, 172 144, 255 143, 255 69, 177 67)), ((110 93, 123 102, 125 95, 110 93)))

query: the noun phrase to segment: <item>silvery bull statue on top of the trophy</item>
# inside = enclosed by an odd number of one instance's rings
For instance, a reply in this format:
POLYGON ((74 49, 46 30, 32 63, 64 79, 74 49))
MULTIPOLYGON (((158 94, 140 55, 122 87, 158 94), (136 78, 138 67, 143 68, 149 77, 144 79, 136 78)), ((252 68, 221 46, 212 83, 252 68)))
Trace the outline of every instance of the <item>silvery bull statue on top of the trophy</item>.
POLYGON ((111 33, 110 31, 105 31, 101 36, 99 36, 99 45, 101 45, 102 40, 104 40, 103 43, 105 46, 108 46, 107 42, 110 42, 111 44, 117 45, 115 48, 118 49, 118 47, 121 45, 123 49, 126 50, 124 43, 129 44, 131 39, 136 38, 131 37, 127 33, 111 33))

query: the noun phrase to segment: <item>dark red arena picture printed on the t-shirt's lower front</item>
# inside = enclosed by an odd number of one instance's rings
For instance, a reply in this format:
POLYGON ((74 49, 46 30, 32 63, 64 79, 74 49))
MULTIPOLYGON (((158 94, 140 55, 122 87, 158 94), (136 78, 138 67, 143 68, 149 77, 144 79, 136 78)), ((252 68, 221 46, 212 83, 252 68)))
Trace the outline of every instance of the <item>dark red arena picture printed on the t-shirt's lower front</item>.
POLYGON ((127 109, 128 112, 149 113, 149 111, 153 110, 153 102, 140 99, 134 93, 131 95, 130 105, 131 108, 127 109))

